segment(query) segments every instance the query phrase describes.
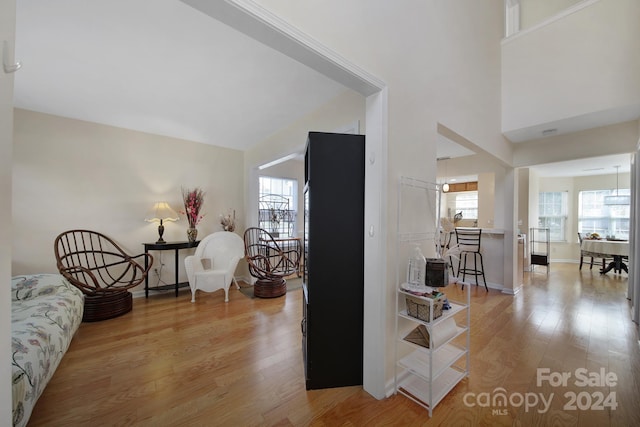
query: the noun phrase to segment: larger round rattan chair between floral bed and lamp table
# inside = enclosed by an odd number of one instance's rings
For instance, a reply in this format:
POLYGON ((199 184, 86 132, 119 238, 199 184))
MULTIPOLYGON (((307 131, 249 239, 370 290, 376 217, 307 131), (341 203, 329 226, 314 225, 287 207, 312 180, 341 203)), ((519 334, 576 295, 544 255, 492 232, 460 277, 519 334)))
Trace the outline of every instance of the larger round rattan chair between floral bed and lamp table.
POLYGON ((131 256, 109 237, 90 230, 65 231, 56 237, 54 251, 60 274, 85 295, 83 322, 131 311, 129 289, 144 282, 153 264, 150 254, 131 256))

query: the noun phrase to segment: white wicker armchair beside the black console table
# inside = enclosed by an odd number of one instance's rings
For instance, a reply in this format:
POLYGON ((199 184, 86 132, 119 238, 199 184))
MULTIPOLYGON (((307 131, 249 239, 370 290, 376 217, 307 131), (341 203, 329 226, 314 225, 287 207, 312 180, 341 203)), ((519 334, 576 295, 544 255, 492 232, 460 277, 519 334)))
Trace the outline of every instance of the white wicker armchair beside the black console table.
POLYGON ((218 231, 206 236, 198 245, 194 255, 184 260, 191 288, 191 302, 196 301, 196 290, 213 292, 224 289, 224 301, 229 301, 231 282, 238 262, 244 258, 244 241, 229 231, 218 231))

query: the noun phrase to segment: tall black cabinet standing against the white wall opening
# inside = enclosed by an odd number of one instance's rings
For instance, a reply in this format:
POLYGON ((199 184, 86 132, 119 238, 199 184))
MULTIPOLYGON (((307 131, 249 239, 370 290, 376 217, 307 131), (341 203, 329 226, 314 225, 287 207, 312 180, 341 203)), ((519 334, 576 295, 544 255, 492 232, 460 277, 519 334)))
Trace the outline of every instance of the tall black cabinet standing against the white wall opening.
POLYGON ((364 166, 364 136, 309 133, 302 319, 307 389, 362 384, 364 166))

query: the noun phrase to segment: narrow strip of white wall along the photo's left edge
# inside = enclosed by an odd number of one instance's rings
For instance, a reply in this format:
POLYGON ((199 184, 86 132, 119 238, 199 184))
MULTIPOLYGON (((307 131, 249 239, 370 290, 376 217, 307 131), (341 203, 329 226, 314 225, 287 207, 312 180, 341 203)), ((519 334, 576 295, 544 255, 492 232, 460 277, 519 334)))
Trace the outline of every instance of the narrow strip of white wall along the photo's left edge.
MULTIPOLYGON (((13 53, 15 0, 0 1, 0 43, 9 41, 13 53)), ((2 49, 2 45, 0 45, 2 49)), ((0 52, 0 55, 2 53, 0 52)), ((13 55, 11 55, 13 56, 13 55)), ((11 168, 13 158, 13 74, 0 69, 0 414, 11 425, 11 168), (1 344, 4 343, 4 344, 1 344)))

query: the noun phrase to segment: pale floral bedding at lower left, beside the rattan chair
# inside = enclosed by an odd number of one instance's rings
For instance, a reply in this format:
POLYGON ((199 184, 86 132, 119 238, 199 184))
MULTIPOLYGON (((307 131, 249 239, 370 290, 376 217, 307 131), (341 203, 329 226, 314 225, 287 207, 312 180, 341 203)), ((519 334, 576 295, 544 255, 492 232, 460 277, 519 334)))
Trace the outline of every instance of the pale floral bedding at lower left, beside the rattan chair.
POLYGON ((24 426, 82 322, 82 292, 59 274, 11 279, 13 425, 24 426))

